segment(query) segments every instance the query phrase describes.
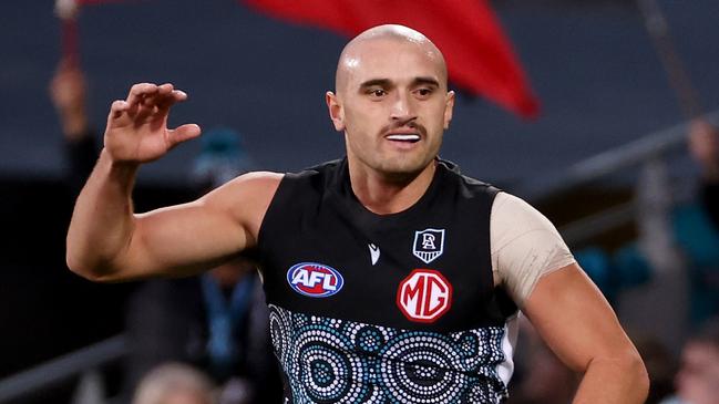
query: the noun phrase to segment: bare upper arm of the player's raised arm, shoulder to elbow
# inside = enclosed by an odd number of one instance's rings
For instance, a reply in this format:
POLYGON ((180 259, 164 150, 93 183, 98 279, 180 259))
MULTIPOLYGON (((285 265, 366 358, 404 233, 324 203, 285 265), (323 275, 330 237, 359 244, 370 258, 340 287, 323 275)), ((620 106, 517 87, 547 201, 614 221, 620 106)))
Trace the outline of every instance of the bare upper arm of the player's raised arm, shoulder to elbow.
POLYGON ((195 201, 135 215, 123 279, 197 273, 253 247, 278 183, 239 177, 195 201))

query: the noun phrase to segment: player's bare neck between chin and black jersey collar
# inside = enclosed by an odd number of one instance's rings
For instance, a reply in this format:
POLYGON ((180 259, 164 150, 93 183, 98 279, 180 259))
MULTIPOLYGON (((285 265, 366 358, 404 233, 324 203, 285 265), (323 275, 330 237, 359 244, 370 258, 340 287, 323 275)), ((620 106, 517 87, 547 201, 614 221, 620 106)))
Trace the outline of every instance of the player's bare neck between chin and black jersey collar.
POLYGON ((432 183, 436 164, 432 160, 417 174, 388 176, 371 169, 349 165, 352 191, 359 201, 378 215, 397 214, 409 209, 424 195, 432 183))

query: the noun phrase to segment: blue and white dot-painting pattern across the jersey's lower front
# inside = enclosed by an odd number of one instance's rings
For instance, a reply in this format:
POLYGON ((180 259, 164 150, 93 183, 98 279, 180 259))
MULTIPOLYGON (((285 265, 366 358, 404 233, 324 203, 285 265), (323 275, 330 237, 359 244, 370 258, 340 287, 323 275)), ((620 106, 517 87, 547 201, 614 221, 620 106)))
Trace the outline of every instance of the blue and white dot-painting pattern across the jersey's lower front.
POLYGON ((270 308, 275 352, 296 404, 501 403, 504 328, 435 333, 270 308))

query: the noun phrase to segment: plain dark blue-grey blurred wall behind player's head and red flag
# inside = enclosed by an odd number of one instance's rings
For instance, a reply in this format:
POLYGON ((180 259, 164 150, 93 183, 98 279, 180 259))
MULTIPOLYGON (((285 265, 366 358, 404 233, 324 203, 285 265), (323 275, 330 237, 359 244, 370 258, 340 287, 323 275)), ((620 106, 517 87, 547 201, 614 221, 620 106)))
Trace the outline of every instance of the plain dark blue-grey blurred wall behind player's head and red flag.
MULTIPOLYGON (((527 123, 462 97, 443 154, 466 173, 531 180, 682 120, 633 2, 494 3, 544 110, 527 123)), ((706 107, 718 108, 719 2, 659 3, 706 107)), ((57 176, 64 163, 47 96, 59 56, 52 1, 0 7, 0 173, 57 176)), ((97 126, 132 83, 171 81, 189 93, 173 123, 237 128, 263 168, 297 169, 342 153, 323 92, 343 38, 271 20, 235 0, 86 7, 80 32, 97 126)), ((146 167, 143 180, 182 183, 198 147, 179 147, 146 167)))

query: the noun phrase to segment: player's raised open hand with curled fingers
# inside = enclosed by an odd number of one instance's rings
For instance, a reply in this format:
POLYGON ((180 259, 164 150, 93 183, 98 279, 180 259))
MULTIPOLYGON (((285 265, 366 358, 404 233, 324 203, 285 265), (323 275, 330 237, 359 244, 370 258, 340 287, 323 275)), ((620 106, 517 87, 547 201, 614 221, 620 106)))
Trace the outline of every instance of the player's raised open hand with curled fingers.
POLYGON ((171 148, 197 137, 199 126, 167 128, 171 106, 187 94, 172 84, 135 84, 127 99, 112 103, 105 128, 105 151, 114 163, 141 164, 164 156, 171 148))

